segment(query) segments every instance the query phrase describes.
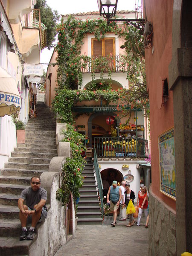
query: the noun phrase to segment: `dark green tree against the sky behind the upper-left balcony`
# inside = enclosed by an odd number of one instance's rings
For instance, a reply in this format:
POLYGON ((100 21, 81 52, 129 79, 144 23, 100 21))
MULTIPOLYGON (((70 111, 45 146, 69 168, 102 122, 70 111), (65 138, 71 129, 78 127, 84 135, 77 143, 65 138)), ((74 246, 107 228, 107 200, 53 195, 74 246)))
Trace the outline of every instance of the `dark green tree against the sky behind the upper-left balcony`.
POLYGON ((52 9, 47 5, 46 0, 37 0, 34 9, 40 9, 41 22, 47 27, 47 48, 53 47, 53 42, 56 35, 56 22, 59 20, 58 11, 52 9))

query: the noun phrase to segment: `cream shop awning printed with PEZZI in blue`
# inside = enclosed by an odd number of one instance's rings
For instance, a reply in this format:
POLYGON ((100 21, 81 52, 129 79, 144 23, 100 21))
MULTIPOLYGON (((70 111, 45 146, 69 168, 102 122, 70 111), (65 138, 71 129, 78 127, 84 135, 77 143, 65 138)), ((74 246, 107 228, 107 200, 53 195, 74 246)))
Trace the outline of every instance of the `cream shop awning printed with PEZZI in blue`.
POLYGON ((0 116, 20 111, 20 95, 15 79, 0 67, 0 116))

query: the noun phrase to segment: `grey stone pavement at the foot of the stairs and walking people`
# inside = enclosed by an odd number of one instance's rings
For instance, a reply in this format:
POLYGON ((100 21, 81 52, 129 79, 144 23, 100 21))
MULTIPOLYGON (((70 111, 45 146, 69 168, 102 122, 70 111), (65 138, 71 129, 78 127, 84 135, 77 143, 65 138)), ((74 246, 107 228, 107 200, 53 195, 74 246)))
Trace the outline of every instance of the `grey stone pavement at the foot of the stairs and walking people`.
POLYGON ((148 229, 145 216, 140 227, 126 227, 127 221, 111 226, 112 216, 105 216, 102 225, 79 225, 75 237, 62 246, 55 256, 148 256, 148 229))

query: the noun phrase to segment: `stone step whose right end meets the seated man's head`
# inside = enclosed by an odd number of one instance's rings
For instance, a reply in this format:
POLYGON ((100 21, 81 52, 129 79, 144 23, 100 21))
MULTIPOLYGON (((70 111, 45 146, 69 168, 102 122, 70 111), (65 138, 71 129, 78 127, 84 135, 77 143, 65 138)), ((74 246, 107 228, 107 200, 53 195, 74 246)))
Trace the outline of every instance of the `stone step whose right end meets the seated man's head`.
POLYGON ((0 175, 0 183, 30 186, 31 177, 0 175))

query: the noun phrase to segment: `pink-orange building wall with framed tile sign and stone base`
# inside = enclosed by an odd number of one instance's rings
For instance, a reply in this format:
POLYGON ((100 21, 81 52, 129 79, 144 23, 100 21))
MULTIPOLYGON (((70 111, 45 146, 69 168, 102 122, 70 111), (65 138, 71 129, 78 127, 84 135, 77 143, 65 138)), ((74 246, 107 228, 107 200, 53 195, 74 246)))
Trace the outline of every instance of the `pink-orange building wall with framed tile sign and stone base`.
POLYGON ((149 255, 192 252, 192 2, 145 0, 153 26, 145 49, 150 101, 149 255))

